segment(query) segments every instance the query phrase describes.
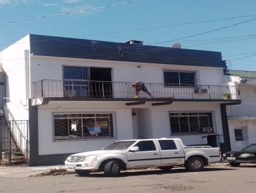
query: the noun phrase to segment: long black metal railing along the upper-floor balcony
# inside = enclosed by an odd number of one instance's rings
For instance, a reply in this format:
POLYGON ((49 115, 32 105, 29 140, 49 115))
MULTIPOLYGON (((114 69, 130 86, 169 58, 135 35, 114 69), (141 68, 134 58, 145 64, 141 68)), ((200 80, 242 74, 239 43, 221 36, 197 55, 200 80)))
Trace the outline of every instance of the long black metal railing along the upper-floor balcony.
MULTIPOLYGON (((34 98, 134 98, 132 82, 42 80, 34 82, 34 98)), ((237 99, 235 86, 144 83, 137 88, 141 98, 237 99)))

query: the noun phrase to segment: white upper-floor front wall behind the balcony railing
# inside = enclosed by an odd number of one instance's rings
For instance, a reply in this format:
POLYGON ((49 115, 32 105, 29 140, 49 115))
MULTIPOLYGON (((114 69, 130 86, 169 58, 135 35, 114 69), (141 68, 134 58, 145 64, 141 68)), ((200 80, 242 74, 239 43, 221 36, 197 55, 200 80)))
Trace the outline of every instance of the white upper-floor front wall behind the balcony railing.
MULTIPOLYGON (((67 66, 97 66, 97 67, 109 67, 112 70, 112 81, 113 82, 152 82, 152 83, 163 83, 164 74, 163 70, 189 70, 196 72, 198 76, 198 84, 203 85, 220 85, 224 82, 224 75, 222 68, 204 67, 204 66, 182 66, 182 65, 158 65, 158 64, 147 64, 147 63, 131 63, 122 61, 100 61, 92 59, 70 59, 70 58, 54 58, 54 57, 43 57, 43 56, 31 56, 31 82, 40 81, 42 79, 51 80, 62 80, 63 79, 63 65, 67 66), (137 68, 141 66, 141 68, 137 68)), ((50 85, 52 83, 50 82, 50 85)), ((44 84, 47 86, 47 84, 44 84)), ((125 84, 122 85, 125 87, 125 84)), ((58 90, 56 96, 62 96, 62 84, 58 82, 54 85, 54 90, 58 90)), ((128 85, 127 91, 120 91, 120 84, 114 84, 113 90, 115 92, 115 97, 122 97, 129 94, 129 96, 134 95, 134 88, 128 85)), ((148 88, 149 91, 159 90, 159 87, 148 88)), ((173 93, 171 88, 162 88, 161 92, 173 93)), ((122 91, 124 89, 122 88, 122 91)), ((187 90, 186 90, 187 91, 187 90)), ((187 91, 188 92, 188 91, 187 91)), ((33 85, 32 85, 33 93, 33 85)), ((175 91, 174 93, 178 93, 175 91)), ((180 93, 184 93, 184 88, 180 93)), ((193 90, 191 90, 193 93, 193 90)), ((46 95, 51 95, 51 93, 46 93, 46 95)), ((167 94, 166 94, 167 95, 167 94)), ((194 96, 196 97, 196 96, 194 96)), ((202 97, 202 96, 198 96, 202 97)))

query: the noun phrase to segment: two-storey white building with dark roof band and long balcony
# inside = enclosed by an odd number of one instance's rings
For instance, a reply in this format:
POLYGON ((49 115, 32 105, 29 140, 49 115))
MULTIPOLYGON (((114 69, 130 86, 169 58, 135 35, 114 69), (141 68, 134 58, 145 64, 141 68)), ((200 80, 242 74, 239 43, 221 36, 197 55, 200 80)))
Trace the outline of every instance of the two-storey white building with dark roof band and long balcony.
POLYGON ((1 52, 1 65, 6 112, 28 120, 31 166, 132 138, 230 150, 225 109, 240 100, 220 52, 28 35, 1 52), (134 98, 136 81, 154 98, 134 98))

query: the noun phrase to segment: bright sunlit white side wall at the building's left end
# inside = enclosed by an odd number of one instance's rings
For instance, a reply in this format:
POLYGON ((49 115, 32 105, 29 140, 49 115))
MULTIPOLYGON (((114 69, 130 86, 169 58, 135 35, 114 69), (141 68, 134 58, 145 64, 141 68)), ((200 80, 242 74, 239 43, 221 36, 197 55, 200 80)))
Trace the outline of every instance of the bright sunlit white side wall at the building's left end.
POLYGON ((15 120, 28 120, 26 71, 28 70, 29 35, 0 53, 0 62, 6 73, 6 100, 15 120))

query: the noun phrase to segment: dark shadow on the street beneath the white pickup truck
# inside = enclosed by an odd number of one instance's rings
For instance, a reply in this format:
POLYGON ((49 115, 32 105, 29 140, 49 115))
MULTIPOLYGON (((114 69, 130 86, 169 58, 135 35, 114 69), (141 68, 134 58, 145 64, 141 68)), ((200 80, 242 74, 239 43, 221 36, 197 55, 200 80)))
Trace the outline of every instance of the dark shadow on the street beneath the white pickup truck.
MULTIPOLYGON (((221 167, 205 167, 203 171, 200 171, 200 173, 204 172, 212 172, 212 171, 228 171, 228 170, 236 170, 239 168, 221 168, 221 167)), ((147 175, 165 175, 165 174, 177 174, 177 173, 191 173, 189 171, 186 171, 186 169, 183 168, 177 168, 177 169, 172 169, 170 172, 165 172, 160 169, 147 169, 147 170, 131 170, 131 171, 122 171, 118 178, 125 178, 129 176, 147 176, 147 175)), ((79 176, 76 175, 77 177, 94 177, 94 178, 106 178, 104 173, 91 173, 88 176, 79 176)))

